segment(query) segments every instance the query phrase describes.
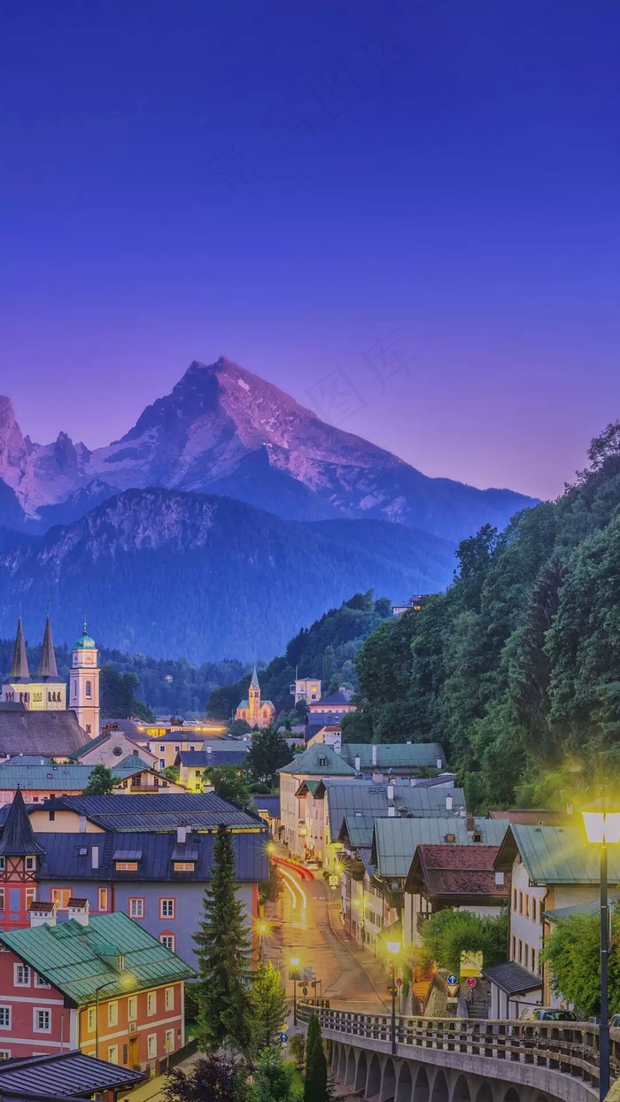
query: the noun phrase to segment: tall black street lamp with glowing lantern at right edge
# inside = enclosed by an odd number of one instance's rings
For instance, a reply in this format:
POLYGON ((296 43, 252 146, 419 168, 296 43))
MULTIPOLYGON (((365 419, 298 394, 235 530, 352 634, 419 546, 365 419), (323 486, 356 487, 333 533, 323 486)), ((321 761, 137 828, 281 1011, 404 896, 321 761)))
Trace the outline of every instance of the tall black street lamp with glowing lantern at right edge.
POLYGON ((600 846, 600 1025, 598 1027, 600 1102, 609 1092, 609 1007, 607 966, 609 959, 609 901, 607 897, 607 846, 620 842, 620 811, 612 810, 602 799, 584 812, 588 842, 600 846))

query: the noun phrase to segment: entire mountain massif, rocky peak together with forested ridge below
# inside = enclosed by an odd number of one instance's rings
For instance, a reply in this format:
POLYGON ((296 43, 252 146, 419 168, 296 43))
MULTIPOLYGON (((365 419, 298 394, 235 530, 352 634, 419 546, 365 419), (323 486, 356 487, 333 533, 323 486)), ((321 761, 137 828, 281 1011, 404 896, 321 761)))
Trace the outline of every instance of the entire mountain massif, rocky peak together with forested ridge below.
POLYGON ((269 657, 355 590, 442 588, 458 540, 532 504, 428 478, 224 358, 95 451, 33 443, 0 398, 0 631, 50 595, 59 637, 88 612, 109 646, 269 657))

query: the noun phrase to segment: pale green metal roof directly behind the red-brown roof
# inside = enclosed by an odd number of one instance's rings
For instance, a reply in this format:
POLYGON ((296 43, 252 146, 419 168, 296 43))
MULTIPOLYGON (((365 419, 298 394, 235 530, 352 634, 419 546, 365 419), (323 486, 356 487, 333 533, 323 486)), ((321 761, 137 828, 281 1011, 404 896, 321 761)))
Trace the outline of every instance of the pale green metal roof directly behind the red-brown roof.
POLYGON ((376 819, 372 842, 372 860, 381 878, 406 877, 418 845, 499 845, 507 829, 504 822, 491 819, 476 819, 476 833, 480 841, 474 841, 474 832, 467 830, 465 819, 418 818, 376 819), (446 842, 446 835, 454 835, 454 842, 446 842))

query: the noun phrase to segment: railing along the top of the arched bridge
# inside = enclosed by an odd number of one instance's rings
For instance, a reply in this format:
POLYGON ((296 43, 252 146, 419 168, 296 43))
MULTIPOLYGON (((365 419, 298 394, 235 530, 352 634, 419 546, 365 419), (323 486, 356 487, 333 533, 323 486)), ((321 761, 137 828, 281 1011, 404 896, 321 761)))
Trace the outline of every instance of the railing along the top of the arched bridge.
MULTIPOLYGON (((389 1015, 302 1003, 300 1018, 307 1022, 311 1014, 317 1015, 323 1030, 339 1034, 342 1040, 391 1041, 389 1015)), ((396 1045, 530 1063, 598 1083, 598 1026, 577 1022, 398 1017, 396 1045)), ((611 1078, 616 1079, 620 1076, 620 1029, 611 1030, 610 1063, 611 1078)))

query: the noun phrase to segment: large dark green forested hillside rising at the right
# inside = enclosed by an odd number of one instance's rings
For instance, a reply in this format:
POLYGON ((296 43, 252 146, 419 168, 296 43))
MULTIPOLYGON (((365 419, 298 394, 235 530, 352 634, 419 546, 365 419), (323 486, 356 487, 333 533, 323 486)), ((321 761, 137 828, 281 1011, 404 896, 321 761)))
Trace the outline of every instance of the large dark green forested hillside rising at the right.
POLYGON ((458 550, 446 593, 357 658, 345 737, 437 739, 468 803, 562 804, 620 766, 620 422, 554 503, 458 550))

